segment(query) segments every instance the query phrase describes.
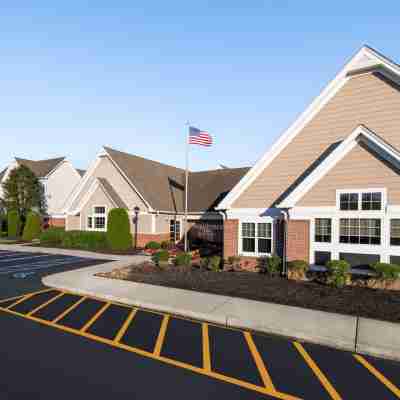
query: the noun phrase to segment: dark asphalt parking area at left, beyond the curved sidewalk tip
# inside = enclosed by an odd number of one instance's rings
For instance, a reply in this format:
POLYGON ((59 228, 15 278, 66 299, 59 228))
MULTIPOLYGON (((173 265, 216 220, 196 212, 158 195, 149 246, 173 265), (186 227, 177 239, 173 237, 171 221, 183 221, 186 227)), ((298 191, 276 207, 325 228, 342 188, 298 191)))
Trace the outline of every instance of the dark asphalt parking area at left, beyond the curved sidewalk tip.
POLYGON ((77 256, 0 250, 0 299, 44 288, 41 279, 45 275, 104 262, 77 256))

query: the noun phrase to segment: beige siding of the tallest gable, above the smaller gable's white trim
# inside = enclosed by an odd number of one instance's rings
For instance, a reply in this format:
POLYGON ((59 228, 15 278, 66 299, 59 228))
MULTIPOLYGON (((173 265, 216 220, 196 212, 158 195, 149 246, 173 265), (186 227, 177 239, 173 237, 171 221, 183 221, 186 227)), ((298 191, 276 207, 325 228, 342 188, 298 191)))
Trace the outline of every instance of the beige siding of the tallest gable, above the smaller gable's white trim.
POLYGON ((372 74, 352 78, 247 188, 233 207, 270 207, 332 143, 350 135, 360 124, 400 148, 399 111, 398 87, 372 74))

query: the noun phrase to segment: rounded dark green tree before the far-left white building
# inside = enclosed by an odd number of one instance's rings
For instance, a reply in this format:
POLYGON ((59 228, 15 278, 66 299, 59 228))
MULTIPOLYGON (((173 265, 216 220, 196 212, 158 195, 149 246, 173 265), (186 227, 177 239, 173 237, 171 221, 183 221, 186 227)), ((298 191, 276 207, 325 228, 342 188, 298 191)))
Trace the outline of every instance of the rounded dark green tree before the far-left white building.
POLYGON ((25 165, 14 168, 3 183, 3 201, 7 210, 16 210, 25 221, 30 211, 46 213, 43 185, 25 165))

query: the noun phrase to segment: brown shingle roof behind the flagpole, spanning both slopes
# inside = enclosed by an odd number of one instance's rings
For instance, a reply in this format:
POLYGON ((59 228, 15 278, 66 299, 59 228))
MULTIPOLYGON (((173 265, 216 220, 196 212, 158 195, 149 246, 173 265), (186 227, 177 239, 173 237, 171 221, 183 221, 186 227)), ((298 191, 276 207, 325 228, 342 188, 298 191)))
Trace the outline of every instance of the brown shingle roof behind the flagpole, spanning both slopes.
MULTIPOLYGON (((104 149, 154 210, 184 211, 185 170, 109 147, 104 149)), ((189 211, 212 209, 248 170, 190 172, 189 211)))

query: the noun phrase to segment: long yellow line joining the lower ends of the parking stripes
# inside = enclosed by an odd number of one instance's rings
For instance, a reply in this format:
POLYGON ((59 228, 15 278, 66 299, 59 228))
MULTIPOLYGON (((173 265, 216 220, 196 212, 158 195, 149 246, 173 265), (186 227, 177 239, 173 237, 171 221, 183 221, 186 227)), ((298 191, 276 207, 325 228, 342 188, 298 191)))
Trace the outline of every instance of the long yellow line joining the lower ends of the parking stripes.
POLYGON ((31 321, 37 322, 37 323, 42 324, 42 325, 50 326, 50 327, 56 328, 56 329, 64 331, 64 332, 75 334, 77 336, 82 336, 82 337, 91 339, 91 340, 96 341, 96 342, 108 344, 110 346, 113 346, 113 347, 116 347, 116 348, 120 348, 120 349, 129 351, 131 353, 134 353, 134 354, 137 354, 137 355, 140 355, 140 356, 143 356, 143 357, 147 357, 147 358, 150 358, 150 359, 153 359, 153 360, 164 362, 166 364, 173 365, 173 366, 176 366, 176 367, 180 367, 182 369, 186 369, 188 371, 191 371, 191 372, 194 372, 194 373, 197 373, 197 374, 200 374, 200 375, 205 375, 205 376, 208 376, 210 378, 214 378, 214 379, 220 380, 222 382, 231 383, 233 385, 237 385, 237 386, 243 387, 245 389, 249 389, 249 390, 253 390, 253 391, 258 392, 258 393, 269 395, 269 396, 271 396, 273 398, 276 398, 276 399, 280 399, 280 400, 301 400, 298 397, 295 397, 295 396, 292 396, 292 395, 289 395, 289 394, 286 394, 286 393, 275 392, 275 391, 269 390, 269 389, 267 389, 265 387, 257 386, 257 385, 254 385, 252 383, 241 381, 241 380, 236 379, 236 378, 232 378, 232 377, 229 377, 229 376, 218 374, 218 373, 212 372, 212 371, 206 371, 203 368, 198 368, 198 367, 195 367, 193 365, 186 364, 186 363, 183 363, 183 362, 180 362, 180 361, 176 361, 176 360, 172 360, 172 359, 169 359, 169 358, 166 358, 166 357, 157 356, 155 353, 149 353, 147 351, 144 351, 144 350, 141 350, 141 349, 138 349, 138 348, 135 348, 135 347, 130 347, 130 346, 125 345, 125 344, 120 343, 120 342, 115 342, 113 340, 109 340, 109 339, 105 339, 105 338, 102 338, 102 337, 95 336, 95 335, 90 334, 88 332, 82 332, 82 331, 79 331, 79 330, 76 330, 76 329, 73 329, 73 328, 70 328, 70 327, 67 327, 67 326, 58 325, 58 324, 55 324, 55 323, 50 322, 50 321, 39 319, 39 318, 34 317, 32 315, 24 315, 24 314, 21 314, 19 312, 16 312, 16 311, 13 311, 13 310, 9 310, 9 309, 6 309, 6 308, 3 308, 2 310, 4 312, 6 312, 6 313, 9 313, 9 314, 12 314, 12 315, 17 315, 19 317, 29 319, 31 321))

